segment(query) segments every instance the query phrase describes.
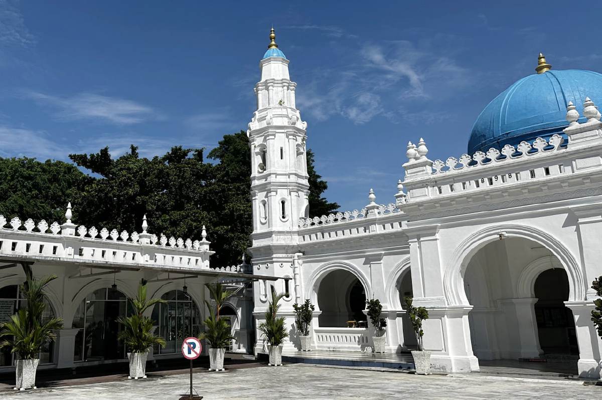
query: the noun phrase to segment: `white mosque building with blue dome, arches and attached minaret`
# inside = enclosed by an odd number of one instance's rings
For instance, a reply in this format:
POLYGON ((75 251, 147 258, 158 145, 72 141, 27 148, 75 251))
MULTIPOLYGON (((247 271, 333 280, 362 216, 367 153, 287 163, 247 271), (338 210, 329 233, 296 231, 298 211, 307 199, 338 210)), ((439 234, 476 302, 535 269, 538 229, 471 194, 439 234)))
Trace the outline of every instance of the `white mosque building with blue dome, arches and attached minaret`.
MULTIPOLYGON (((259 63, 257 111, 247 135, 252 154, 252 253, 259 280, 256 324, 274 285, 293 304, 315 304, 312 347, 370 351, 365 299, 388 319, 386 351, 414 348, 405 296, 429 310, 424 346, 439 371, 477 371, 483 360, 574 360, 598 377, 601 341, 590 320, 590 286, 602 275, 602 75, 553 70, 539 55, 526 76, 483 109, 468 152, 428 156, 412 137, 380 205, 366 190, 359 210, 311 216, 307 125, 296 83, 275 34, 259 63)), ((261 338, 259 332, 256 333, 261 338)), ((265 352, 261 340, 256 352, 265 352)))

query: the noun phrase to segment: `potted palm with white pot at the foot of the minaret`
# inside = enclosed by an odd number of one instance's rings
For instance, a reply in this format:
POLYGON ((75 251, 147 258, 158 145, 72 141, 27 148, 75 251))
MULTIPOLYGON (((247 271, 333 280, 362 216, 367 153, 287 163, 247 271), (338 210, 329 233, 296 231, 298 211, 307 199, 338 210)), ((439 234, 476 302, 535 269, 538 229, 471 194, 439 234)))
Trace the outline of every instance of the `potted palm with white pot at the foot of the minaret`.
POLYGON ((278 302, 282 297, 284 297, 284 293, 276 293, 272 289, 272 301, 268 302, 265 321, 261 322, 258 327, 264 337, 264 346, 265 343, 268 345, 268 353, 270 354, 268 365, 282 365, 282 343, 288 337, 287 328, 284 325, 284 316, 278 316, 278 310, 280 309, 278 302))

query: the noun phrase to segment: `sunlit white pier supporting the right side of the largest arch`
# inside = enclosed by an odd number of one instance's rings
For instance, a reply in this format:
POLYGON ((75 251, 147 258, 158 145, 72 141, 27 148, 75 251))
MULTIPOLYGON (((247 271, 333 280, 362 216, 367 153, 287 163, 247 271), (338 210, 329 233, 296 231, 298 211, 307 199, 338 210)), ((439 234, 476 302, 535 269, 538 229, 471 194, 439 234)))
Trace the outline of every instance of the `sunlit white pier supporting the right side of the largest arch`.
POLYGON ((602 342, 592 322, 592 301, 565 301, 575 319, 577 344, 579 345, 579 361, 577 370, 580 377, 600 378, 600 356, 602 342))

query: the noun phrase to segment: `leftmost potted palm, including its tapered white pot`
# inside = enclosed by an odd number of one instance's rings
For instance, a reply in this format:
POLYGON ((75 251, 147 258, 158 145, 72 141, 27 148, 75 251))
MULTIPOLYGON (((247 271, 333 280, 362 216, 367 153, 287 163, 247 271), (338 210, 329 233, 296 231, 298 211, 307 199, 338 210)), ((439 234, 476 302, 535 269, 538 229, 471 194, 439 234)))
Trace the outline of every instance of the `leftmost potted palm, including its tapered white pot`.
POLYGON ((46 292, 44 289, 55 275, 36 279, 31 269, 25 268, 26 280, 20 291, 26 303, 10 321, 0 324, 0 348, 8 346, 16 354, 16 389, 36 389, 36 370, 40 363, 42 346, 57 339, 55 330, 63 328, 63 319, 51 318, 42 321, 46 310, 46 292))

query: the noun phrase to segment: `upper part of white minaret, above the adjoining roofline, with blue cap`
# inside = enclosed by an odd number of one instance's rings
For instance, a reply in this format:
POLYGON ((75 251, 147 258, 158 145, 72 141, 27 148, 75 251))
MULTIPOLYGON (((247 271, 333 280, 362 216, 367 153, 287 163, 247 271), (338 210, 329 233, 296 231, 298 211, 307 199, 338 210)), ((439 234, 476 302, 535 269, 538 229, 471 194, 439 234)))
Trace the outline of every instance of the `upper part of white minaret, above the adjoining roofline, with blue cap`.
POLYGON ((274 28, 270 40, 259 62, 257 111, 247 131, 252 159, 253 247, 266 239, 296 244, 291 233, 297 230, 299 217, 308 214, 307 124, 295 108, 297 84, 288 76, 288 60, 276 45, 274 28))

